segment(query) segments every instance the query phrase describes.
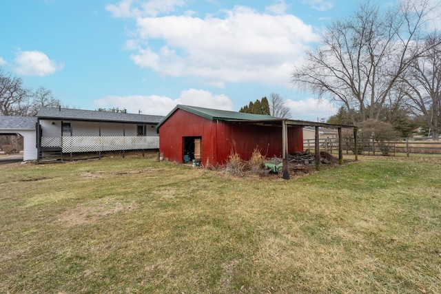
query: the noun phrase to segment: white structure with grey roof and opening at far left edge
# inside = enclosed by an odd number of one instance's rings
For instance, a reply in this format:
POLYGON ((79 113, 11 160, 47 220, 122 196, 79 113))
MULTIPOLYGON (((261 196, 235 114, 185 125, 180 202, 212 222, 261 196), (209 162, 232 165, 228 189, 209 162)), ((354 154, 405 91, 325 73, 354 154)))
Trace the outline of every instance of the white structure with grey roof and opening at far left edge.
POLYGON ((35 126, 37 118, 29 116, 0 116, 0 135, 23 136, 23 160, 37 159, 35 126))

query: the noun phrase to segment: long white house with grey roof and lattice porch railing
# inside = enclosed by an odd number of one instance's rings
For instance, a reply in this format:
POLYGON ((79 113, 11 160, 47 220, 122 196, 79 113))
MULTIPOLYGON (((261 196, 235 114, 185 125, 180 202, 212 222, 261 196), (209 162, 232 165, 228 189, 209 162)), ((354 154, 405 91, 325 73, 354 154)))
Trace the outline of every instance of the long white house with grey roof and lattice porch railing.
POLYGON ((163 116, 42 107, 37 113, 37 158, 78 152, 158 149, 163 116))

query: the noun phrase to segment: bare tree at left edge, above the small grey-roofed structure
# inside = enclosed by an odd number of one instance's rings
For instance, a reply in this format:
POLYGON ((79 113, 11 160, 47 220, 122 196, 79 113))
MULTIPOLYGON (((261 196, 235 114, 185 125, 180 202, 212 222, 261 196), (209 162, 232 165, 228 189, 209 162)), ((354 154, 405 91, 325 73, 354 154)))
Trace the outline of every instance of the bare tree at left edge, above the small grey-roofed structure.
POLYGON ((0 68, 0 114, 3 116, 25 115, 31 92, 23 86, 23 80, 3 74, 0 68))

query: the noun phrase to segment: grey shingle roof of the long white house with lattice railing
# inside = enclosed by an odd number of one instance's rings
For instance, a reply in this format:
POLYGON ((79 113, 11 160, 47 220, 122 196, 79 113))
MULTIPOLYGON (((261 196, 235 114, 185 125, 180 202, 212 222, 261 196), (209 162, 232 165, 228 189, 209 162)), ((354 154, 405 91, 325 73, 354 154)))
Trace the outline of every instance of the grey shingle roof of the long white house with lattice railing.
POLYGON ((38 118, 61 120, 94 120, 124 123, 159 123, 164 116, 146 114, 124 114, 121 112, 99 112, 95 110, 68 109, 59 107, 41 107, 38 118))

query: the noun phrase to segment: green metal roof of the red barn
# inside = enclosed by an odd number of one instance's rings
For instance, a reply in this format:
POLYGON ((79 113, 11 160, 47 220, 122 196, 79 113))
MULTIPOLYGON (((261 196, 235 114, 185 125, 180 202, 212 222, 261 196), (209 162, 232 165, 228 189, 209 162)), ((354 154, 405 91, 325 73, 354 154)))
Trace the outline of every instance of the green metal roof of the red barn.
POLYGON ((276 118, 275 116, 269 116, 265 114, 246 114, 244 112, 230 112, 227 110, 219 110, 219 109, 210 109, 196 106, 187 106, 187 105, 176 105, 174 109, 161 120, 156 128, 160 127, 165 120, 167 120, 177 109, 183 109, 186 112, 190 112, 192 114, 196 114, 197 116, 202 116, 209 120, 280 120, 280 118, 276 118))

